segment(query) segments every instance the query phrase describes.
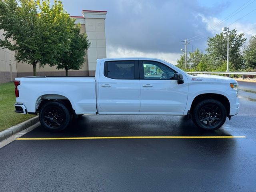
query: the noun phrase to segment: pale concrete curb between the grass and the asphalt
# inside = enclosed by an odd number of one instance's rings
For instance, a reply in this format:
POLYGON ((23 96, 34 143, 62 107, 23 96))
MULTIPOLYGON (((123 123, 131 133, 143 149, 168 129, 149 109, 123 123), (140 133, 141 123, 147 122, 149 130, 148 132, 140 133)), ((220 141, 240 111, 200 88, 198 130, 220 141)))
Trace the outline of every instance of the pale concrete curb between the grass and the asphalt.
POLYGON ((4 131, 1 131, 0 132, 0 141, 7 139, 8 137, 36 124, 37 122, 39 122, 38 116, 33 117, 29 120, 26 120, 18 125, 14 125, 4 131))

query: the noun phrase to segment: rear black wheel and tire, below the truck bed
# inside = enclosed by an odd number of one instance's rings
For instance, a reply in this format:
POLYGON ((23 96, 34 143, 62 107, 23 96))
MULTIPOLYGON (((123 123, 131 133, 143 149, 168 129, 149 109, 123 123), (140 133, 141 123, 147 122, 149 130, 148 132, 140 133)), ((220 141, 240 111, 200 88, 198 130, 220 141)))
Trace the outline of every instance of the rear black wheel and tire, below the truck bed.
POLYGON ((39 111, 41 125, 49 131, 64 130, 71 122, 72 115, 68 107, 56 101, 46 102, 39 111))

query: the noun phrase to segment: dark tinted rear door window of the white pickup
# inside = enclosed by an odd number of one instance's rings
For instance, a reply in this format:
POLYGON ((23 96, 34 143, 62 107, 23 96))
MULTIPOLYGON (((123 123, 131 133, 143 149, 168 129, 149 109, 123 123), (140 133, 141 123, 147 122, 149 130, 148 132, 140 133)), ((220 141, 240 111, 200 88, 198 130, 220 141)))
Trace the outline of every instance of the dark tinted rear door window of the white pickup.
POLYGON ((106 76, 112 79, 134 79, 134 61, 109 61, 106 76))

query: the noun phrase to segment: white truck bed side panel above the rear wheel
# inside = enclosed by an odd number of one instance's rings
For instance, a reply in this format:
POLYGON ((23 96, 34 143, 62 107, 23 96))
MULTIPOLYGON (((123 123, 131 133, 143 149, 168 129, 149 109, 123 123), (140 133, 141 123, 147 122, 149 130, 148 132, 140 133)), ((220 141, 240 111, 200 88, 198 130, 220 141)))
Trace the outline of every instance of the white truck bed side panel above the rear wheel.
POLYGON ((28 112, 36 112, 42 100, 69 100, 77 114, 95 114, 96 82, 92 76, 33 76, 16 78, 20 96, 28 112))

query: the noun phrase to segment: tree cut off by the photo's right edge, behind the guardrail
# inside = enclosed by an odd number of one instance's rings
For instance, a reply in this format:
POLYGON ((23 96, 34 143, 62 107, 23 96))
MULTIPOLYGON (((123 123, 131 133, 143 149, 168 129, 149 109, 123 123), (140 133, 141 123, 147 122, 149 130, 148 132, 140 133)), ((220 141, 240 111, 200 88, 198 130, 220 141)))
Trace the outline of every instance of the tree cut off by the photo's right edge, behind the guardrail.
POLYGON ((256 36, 252 36, 244 50, 246 68, 256 69, 256 36))

